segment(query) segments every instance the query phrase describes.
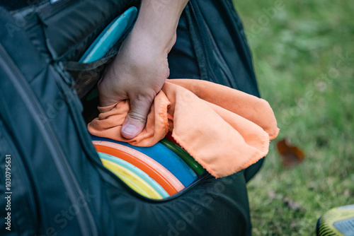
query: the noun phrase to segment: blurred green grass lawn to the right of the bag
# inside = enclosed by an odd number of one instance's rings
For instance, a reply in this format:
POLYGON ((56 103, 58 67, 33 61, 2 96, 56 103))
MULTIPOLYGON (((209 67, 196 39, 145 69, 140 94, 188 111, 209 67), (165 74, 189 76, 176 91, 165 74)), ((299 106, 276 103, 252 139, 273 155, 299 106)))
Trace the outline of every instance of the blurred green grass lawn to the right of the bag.
POLYGON ((276 140, 287 137, 306 154, 284 168, 271 143, 248 184, 253 235, 314 235, 321 214, 354 203, 354 1, 234 3, 261 95, 278 119, 276 140))

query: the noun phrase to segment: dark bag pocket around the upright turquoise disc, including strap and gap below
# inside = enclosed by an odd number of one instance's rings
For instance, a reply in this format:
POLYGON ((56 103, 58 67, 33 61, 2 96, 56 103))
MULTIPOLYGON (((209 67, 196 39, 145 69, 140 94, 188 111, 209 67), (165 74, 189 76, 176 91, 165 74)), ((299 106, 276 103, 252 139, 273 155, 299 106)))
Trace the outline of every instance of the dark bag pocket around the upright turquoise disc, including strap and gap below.
MULTIPOLYGON (((74 80, 79 98, 84 98, 101 77, 105 66, 113 60, 122 41, 132 29, 105 54, 105 57, 91 63, 79 63, 93 41, 105 27, 128 8, 139 8, 141 0, 114 1, 50 1, 28 6, 13 12, 16 26, 24 28, 40 54, 69 72, 74 80)), ((17 30, 14 28, 13 30, 17 30)))

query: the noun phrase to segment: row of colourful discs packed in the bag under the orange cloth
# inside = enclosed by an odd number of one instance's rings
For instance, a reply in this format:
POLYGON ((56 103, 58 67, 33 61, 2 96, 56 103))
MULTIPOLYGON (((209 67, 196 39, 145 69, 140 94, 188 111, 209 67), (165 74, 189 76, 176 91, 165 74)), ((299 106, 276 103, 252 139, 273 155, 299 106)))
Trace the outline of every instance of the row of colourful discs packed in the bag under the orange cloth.
POLYGON ((108 170, 150 199, 176 194, 205 172, 171 136, 152 147, 132 146, 97 136, 92 136, 92 142, 108 170))

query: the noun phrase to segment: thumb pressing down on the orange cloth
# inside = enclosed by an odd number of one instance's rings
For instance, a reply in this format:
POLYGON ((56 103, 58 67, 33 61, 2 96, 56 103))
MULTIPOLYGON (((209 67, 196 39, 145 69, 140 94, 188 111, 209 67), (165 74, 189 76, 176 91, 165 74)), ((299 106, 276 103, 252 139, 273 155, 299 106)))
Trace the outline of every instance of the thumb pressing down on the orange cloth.
POLYGON ((154 97, 138 97, 130 100, 130 112, 122 124, 120 133, 125 138, 135 138, 144 129, 147 123, 147 114, 154 97))

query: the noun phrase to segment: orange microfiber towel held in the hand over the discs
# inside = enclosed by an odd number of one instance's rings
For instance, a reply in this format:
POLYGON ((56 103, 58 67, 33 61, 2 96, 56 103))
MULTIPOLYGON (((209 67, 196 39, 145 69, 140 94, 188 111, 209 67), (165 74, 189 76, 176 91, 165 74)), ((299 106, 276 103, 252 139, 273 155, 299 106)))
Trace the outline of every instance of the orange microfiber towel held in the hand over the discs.
POLYGON ((167 80, 156 95, 142 133, 120 135, 130 110, 129 100, 98 107, 101 114, 88 125, 96 136, 153 146, 172 132, 173 138, 215 177, 232 175, 268 153, 278 135, 268 102, 208 81, 167 80))

